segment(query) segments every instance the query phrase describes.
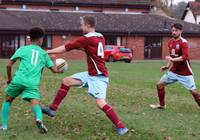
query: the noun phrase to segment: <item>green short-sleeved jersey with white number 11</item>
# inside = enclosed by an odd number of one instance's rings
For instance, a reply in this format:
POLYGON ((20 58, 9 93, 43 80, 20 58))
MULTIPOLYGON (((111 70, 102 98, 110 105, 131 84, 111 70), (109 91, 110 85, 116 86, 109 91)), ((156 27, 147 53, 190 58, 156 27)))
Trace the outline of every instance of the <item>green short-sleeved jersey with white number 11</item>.
POLYGON ((54 65, 49 55, 33 44, 20 47, 10 59, 11 61, 20 60, 12 82, 21 83, 27 87, 39 86, 43 68, 54 65))

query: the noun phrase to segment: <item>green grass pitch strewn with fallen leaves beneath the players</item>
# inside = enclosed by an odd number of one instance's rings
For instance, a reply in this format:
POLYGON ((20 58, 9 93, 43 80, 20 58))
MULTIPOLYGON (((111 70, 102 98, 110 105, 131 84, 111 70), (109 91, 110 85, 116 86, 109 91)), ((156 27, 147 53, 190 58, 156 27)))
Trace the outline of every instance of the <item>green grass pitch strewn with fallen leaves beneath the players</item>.
MULTIPOLYGON (((3 80, 6 60, 0 60, 0 102, 3 101, 3 80)), ((27 102, 17 98, 13 103, 9 130, 0 133, 0 140, 199 140, 200 111, 190 93, 180 84, 167 87, 167 109, 152 110, 157 102, 155 84, 162 76, 159 68, 165 62, 139 61, 130 64, 107 63, 110 85, 107 101, 130 129, 118 136, 111 122, 100 111, 87 89, 72 88, 57 116, 44 116, 47 135, 38 132, 27 102)), ((200 87, 200 63, 192 63, 197 87, 200 87)), ((63 77, 86 70, 85 62, 69 61, 69 71, 52 74, 45 70, 41 84, 41 104, 49 104, 63 77)))

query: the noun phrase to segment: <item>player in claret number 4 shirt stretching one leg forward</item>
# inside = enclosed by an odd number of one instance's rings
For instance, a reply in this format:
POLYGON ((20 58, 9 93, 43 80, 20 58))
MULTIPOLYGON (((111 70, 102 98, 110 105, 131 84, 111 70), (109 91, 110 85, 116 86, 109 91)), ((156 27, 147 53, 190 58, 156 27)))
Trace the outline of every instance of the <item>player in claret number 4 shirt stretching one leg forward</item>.
POLYGON ((70 87, 88 86, 88 93, 95 98, 97 106, 105 112, 107 117, 116 126, 117 133, 123 135, 128 132, 113 108, 106 102, 106 89, 108 86, 108 71, 104 62, 105 40, 102 34, 95 32, 95 18, 92 16, 81 17, 81 29, 84 36, 75 42, 49 50, 49 54, 63 53, 73 49, 81 49, 87 55, 87 72, 80 72, 62 80, 60 89, 49 106, 42 107, 43 113, 51 117, 56 115, 56 110, 70 87))

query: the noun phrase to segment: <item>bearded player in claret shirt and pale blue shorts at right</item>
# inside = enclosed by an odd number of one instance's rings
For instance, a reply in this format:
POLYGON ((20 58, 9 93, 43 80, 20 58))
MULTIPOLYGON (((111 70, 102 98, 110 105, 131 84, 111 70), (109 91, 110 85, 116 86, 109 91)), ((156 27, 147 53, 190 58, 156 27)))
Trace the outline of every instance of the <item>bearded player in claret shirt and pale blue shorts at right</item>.
POLYGON ((161 67, 161 72, 168 70, 157 83, 159 104, 150 105, 153 109, 165 109, 165 86, 180 82, 188 89, 200 106, 200 94, 196 90, 193 72, 190 66, 189 46, 187 40, 181 37, 183 26, 176 23, 171 27, 172 39, 168 42, 169 54, 166 56, 168 64, 161 67))

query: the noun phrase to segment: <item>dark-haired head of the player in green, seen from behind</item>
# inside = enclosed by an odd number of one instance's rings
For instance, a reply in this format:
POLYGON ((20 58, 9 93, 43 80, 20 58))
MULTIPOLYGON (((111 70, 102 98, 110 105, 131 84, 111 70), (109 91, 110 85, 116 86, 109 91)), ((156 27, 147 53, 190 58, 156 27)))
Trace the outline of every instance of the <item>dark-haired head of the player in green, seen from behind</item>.
POLYGON ((43 43, 43 37, 44 37, 44 30, 39 28, 39 27, 34 27, 32 29, 30 29, 29 31, 29 36, 30 36, 30 40, 31 42, 37 42, 38 45, 42 45, 43 43))

